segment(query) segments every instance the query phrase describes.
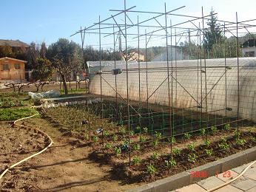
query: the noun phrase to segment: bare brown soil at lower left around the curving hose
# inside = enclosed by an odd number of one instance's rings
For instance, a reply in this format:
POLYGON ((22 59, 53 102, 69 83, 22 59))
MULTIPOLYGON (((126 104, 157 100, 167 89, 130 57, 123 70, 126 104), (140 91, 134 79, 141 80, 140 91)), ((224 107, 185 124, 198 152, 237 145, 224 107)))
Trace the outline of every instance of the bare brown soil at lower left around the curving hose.
MULTIPOLYGON (((24 120, 23 124, 26 128, 36 126, 45 131, 54 143, 43 154, 7 172, 1 179, 0 191, 124 191, 138 186, 118 180, 110 166, 90 161, 87 155, 92 151, 85 143, 61 137, 46 120, 35 118, 24 120)), ((48 145, 44 136, 26 128, 0 123, 0 174, 48 145)))

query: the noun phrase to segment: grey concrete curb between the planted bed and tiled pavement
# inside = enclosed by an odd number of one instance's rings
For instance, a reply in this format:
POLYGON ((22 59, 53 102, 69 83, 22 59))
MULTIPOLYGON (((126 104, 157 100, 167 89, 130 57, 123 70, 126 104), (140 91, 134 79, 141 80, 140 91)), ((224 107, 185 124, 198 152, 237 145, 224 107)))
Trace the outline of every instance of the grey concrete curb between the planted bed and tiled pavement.
POLYGON ((216 171, 218 171, 218 173, 222 173, 223 171, 228 171, 231 168, 236 168, 253 160, 256 160, 256 146, 246 149, 246 151, 232 154, 229 157, 224 157, 223 159, 215 162, 209 162, 206 165, 201 165, 188 171, 183 171, 180 174, 175 174, 173 176, 142 185, 141 187, 130 189, 128 192, 172 191, 177 188, 182 188, 186 185, 198 182, 201 179, 205 179, 200 177, 191 177, 190 173, 192 171, 206 171, 207 177, 209 177, 214 176, 216 171))

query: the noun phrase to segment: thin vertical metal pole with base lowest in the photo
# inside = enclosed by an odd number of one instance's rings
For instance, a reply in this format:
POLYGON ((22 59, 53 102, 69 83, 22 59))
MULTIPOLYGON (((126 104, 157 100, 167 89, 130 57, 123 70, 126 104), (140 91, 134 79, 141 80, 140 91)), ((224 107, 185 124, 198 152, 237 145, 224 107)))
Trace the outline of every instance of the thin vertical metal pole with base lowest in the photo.
MULTIPOLYGON (((124 35, 125 35, 125 55, 127 55, 127 1, 124 0, 124 35)), ((129 144, 130 144, 130 122, 129 122, 129 78, 128 78, 128 61, 125 57, 127 68, 127 113, 128 113, 128 131, 129 131, 129 144)), ((131 148, 129 145, 129 166, 131 165, 131 148)))

